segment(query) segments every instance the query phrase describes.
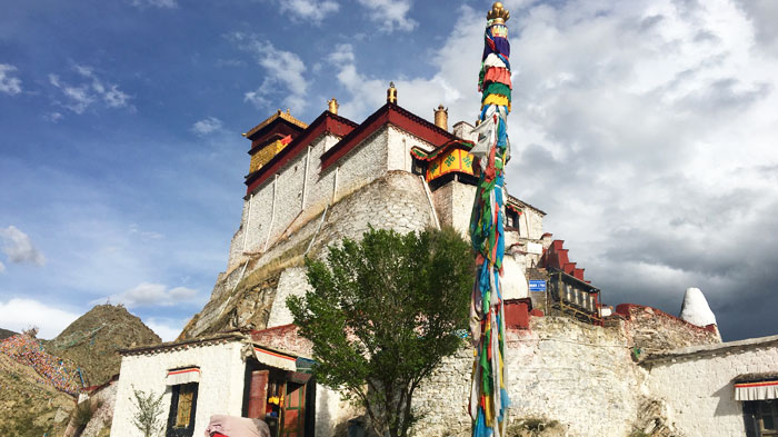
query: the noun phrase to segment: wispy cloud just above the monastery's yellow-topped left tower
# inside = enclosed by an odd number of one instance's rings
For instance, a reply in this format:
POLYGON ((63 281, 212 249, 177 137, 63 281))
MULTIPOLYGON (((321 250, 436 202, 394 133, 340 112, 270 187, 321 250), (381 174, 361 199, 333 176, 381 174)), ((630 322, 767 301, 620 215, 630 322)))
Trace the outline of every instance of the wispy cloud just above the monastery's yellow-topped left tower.
POLYGON ((265 70, 265 80, 253 91, 243 96, 245 101, 260 109, 267 109, 273 98, 271 90, 278 86, 286 88, 288 95, 282 100, 287 108, 301 111, 308 106, 308 80, 303 76, 306 64, 299 56, 277 49, 271 42, 259 40, 253 36, 233 33, 230 39, 242 50, 252 53, 257 63, 265 70))

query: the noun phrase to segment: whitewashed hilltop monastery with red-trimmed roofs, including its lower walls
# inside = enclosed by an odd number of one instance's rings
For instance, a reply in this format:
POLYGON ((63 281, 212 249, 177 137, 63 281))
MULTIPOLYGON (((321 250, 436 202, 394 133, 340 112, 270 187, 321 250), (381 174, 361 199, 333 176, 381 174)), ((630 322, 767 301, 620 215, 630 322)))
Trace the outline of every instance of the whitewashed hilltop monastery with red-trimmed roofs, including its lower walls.
MULTIPOLYGON (((112 436, 133 435, 133 387, 164 394, 170 437, 202 435, 213 414, 267 417, 280 394, 289 400, 296 393, 299 403, 277 405, 273 437, 342 436, 360 416, 297 368, 311 358, 310 345, 289 325, 286 298, 308 287, 303 255, 320 256, 327 245, 359 238, 369 226, 399 232, 452 226, 466 235, 476 182, 468 153, 472 126, 459 122, 449 131, 442 108, 436 126, 396 101, 361 123, 338 116, 337 105, 330 108, 310 125, 278 111, 245 135, 250 172, 227 270, 177 342, 123 352, 112 436), (199 378, 197 399, 183 387, 194 381, 174 376, 182 370, 199 378), (184 406, 192 417, 177 423, 181 393, 190 396, 184 406)), ((585 280, 563 242, 543 231, 543 216, 508 197, 510 423, 558 420, 568 436, 587 437, 636 429, 655 436, 775 435, 769 430, 778 411, 769 399, 776 390, 761 388, 778 387, 771 376, 778 374, 775 338, 721 344, 715 325, 695 326, 635 305, 608 316, 600 290, 585 280), (751 397, 737 400, 738 393, 751 397)), ((415 406, 427 413, 420 435, 469 434, 471 357, 463 347, 417 393, 415 406)))

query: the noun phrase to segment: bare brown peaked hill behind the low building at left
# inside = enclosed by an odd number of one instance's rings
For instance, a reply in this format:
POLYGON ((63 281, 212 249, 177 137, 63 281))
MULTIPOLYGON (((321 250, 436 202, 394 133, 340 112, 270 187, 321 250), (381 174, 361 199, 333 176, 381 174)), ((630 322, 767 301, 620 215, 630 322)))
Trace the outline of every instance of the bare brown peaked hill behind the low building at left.
POLYGON ((154 331, 122 305, 98 305, 70 324, 46 350, 81 368, 86 386, 106 383, 119 373, 118 349, 161 342, 154 331))

